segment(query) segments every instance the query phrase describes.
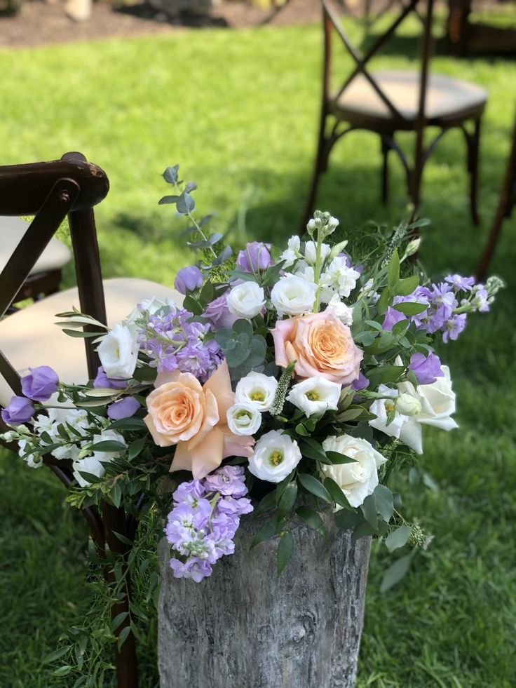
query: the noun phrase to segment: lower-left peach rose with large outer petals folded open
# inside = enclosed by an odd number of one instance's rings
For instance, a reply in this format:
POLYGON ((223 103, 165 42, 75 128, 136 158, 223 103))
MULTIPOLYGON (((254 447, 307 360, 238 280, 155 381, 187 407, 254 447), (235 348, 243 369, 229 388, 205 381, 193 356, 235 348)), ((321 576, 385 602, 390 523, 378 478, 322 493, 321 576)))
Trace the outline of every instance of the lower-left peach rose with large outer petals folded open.
POLYGON ((226 361, 204 384, 189 372, 159 375, 147 397, 145 424, 159 447, 176 445, 170 471, 191 471, 196 480, 226 457, 250 457, 254 438, 234 435, 226 411, 235 403, 226 361))

